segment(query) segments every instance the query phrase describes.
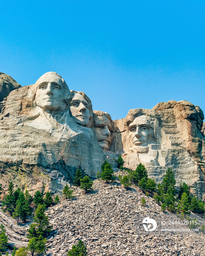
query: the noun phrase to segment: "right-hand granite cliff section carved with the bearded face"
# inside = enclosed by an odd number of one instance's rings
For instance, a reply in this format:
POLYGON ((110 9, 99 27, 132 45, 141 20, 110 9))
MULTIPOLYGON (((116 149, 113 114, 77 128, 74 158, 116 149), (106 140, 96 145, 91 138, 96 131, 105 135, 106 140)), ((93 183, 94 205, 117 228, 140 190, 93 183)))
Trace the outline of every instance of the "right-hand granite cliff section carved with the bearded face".
POLYGON ((113 140, 125 167, 141 162, 158 182, 172 167, 177 185, 190 185, 193 194, 205 194, 204 114, 188 101, 169 101, 153 109, 131 109, 126 118, 115 120, 113 140))

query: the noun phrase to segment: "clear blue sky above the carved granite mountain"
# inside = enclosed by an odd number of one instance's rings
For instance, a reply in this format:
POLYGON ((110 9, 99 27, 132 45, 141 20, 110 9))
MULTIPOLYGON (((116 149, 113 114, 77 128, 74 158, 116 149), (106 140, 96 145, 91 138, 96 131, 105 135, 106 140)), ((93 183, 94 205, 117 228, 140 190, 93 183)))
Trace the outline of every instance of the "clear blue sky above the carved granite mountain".
POLYGON ((113 119, 185 99, 205 111, 205 1, 1 0, 0 72, 45 72, 113 119))

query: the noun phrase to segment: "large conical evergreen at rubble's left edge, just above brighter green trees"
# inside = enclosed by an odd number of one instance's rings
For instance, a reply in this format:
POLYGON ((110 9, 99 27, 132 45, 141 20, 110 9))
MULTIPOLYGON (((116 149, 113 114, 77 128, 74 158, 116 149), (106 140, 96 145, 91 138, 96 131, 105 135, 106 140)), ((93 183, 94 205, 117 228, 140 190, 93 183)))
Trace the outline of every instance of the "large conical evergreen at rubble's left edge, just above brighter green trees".
POLYGON ((39 204, 36 208, 33 223, 29 226, 28 237, 38 238, 40 235, 44 238, 51 231, 52 226, 49 225, 48 216, 45 215, 45 205, 39 204))

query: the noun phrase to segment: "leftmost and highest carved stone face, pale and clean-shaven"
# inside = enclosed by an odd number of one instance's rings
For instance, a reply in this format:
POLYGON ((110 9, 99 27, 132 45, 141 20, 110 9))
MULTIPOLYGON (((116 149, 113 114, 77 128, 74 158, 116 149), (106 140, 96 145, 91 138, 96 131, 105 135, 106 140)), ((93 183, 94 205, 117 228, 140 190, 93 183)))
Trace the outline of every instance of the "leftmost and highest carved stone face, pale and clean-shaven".
POLYGON ((64 111, 66 109, 64 97, 63 81, 59 76, 49 74, 38 80, 36 105, 40 108, 58 112, 64 111))

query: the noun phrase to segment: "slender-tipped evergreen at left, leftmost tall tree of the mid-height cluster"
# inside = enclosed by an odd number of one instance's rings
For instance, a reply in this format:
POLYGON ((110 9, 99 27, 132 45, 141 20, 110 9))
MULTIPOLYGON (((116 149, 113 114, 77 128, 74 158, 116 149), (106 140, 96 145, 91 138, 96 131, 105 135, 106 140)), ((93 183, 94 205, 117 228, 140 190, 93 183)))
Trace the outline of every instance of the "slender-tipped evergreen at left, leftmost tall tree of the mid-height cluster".
POLYGON ((4 197, 2 201, 3 211, 8 211, 10 215, 14 212, 15 209, 15 200, 14 200, 14 190, 13 190, 13 183, 9 183, 8 187, 8 194, 4 197))

